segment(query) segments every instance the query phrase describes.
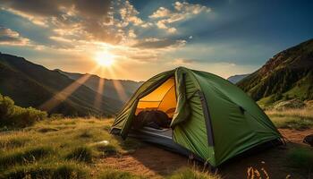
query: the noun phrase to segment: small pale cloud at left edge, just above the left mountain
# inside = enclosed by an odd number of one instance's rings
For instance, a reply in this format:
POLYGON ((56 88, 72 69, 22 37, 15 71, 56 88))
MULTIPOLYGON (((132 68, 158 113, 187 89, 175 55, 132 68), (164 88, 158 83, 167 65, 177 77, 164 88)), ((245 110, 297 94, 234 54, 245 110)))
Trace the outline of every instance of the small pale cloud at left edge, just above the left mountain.
POLYGON ((18 32, 0 26, 0 45, 26 46, 29 43, 29 38, 22 38, 18 32))

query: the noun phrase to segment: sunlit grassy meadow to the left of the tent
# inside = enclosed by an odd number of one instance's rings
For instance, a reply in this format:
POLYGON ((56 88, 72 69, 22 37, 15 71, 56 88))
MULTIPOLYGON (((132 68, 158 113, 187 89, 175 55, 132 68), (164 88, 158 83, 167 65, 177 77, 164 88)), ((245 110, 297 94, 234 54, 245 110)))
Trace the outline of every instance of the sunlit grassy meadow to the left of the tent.
POLYGON ((99 158, 140 147, 139 141, 111 135, 107 129, 112 122, 53 118, 0 132, 0 178, 139 178, 106 166, 95 168, 99 158))

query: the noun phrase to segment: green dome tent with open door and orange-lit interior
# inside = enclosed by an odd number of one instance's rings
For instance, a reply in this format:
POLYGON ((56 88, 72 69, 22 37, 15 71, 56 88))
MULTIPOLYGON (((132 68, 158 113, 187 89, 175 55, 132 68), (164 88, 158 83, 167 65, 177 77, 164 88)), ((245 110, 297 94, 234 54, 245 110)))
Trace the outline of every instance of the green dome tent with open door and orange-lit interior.
MULTIPOLYGON (((137 136, 219 166, 230 158, 282 135, 245 92, 209 72, 178 67, 144 82, 114 120, 111 132, 137 136), (161 110, 172 118, 164 130, 131 129, 142 110, 161 110)), ((276 142, 277 143, 277 142, 276 142)))

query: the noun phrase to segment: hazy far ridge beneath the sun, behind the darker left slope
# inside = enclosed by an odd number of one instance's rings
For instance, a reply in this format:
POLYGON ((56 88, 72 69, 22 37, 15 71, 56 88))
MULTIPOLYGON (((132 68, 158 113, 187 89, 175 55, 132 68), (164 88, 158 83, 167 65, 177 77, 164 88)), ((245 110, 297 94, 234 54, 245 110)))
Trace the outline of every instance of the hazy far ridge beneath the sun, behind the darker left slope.
MULTIPOLYGON (((78 80, 83 75, 76 72, 63 72, 59 69, 55 71, 60 72, 72 80, 78 80)), ((97 75, 88 74, 89 79, 84 82, 84 85, 89 87, 91 90, 103 94, 105 97, 114 98, 125 103, 131 95, 140 87, 142 81, 123 81, 123 80, 111 80, 106 78, 100 78, 97 75), (99 91, 100 90, 100 91, 99 91)))

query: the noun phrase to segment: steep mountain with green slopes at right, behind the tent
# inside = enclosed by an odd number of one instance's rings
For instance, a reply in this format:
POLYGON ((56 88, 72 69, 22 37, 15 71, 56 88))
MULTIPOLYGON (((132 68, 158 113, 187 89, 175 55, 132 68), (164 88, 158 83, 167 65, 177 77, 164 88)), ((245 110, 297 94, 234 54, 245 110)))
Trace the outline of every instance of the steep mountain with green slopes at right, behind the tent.
POLYGON ((313 39, 283 50, 237 85, 270 104, 280 99, 313 99, 313 39))

